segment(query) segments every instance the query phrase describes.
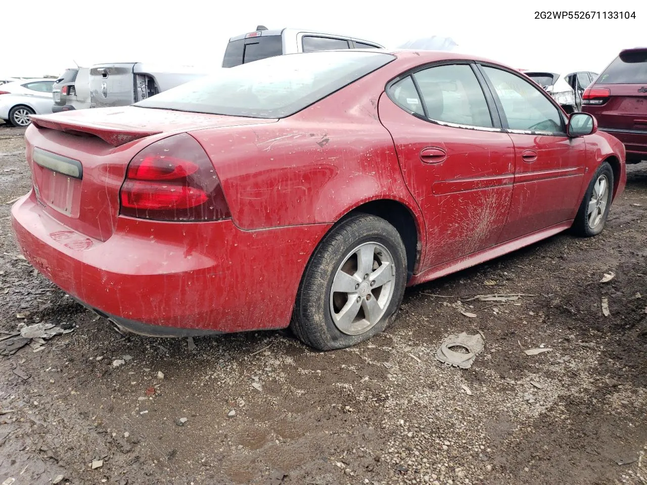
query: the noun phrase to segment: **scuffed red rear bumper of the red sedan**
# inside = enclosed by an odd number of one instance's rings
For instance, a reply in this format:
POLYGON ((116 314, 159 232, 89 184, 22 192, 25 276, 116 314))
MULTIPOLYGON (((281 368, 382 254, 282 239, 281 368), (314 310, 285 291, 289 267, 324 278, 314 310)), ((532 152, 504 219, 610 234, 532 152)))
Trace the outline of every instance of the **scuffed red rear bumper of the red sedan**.
POLYGON ((14 204, 12 225, 27 260, 63 291, 124 327, 168 336, 287 327, 329 228, 119 217, 98 241, 52 219, 32 192, 14 204))

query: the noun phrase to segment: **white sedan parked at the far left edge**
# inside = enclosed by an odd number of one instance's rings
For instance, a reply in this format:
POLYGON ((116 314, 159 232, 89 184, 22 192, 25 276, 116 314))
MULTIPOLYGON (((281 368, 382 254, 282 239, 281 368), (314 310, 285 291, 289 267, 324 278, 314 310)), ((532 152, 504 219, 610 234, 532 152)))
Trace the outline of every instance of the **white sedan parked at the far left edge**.
POLYGON ((0 118, 14 126, 27 126, 31 114, 52 113, 53 79, 28 79, 0 86, 0 118))

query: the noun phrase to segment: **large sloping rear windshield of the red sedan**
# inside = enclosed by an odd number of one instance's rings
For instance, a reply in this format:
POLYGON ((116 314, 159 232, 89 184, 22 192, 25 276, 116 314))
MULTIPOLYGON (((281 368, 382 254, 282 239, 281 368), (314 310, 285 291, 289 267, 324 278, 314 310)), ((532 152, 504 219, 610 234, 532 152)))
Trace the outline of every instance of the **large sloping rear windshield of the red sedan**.
POLYGON ((144 108, 285 118, 395 59, 362 50, 288 54, 221 69, 135 103, 144 108))

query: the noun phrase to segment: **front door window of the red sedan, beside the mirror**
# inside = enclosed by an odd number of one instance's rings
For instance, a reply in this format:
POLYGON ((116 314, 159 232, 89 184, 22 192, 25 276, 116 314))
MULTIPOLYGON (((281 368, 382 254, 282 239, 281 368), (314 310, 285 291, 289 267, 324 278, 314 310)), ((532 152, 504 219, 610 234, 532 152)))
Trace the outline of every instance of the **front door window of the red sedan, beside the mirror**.
POLYGON ((560 111, 534 85, 505 70, 488 66, 483 70, 501 101, 510 129, 564 133, 560 111))

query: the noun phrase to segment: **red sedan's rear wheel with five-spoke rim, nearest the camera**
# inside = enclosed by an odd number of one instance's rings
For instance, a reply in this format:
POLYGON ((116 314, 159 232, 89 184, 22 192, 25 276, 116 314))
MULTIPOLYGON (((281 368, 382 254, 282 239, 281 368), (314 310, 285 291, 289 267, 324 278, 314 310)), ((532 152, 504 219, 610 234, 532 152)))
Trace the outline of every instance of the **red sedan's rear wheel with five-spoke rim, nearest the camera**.
POLYGON ((407 279, 406 250, 391 224, 357 214, 333 228, 303 273, 290 324, 318 350, 344 349, 393 321, 407 279))

